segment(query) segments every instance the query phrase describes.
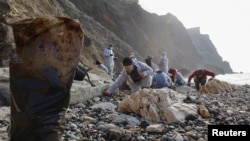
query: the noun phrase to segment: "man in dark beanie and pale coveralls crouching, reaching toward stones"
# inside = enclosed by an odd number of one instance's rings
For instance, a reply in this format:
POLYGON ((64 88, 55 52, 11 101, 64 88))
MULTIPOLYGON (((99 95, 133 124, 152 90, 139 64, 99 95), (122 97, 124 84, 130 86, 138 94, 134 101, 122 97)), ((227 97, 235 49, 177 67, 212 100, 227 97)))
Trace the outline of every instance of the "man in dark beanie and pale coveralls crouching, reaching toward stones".
POLYGON ((116 81, 103 92, 104 95, 110 96, 123 82, 127 81, 131 93, 139 91, 141 88, 149 88, 152 84, 153 69, 147 64, 137 61, 133 62, 130 57, 123 59, 123 70, 116 81))

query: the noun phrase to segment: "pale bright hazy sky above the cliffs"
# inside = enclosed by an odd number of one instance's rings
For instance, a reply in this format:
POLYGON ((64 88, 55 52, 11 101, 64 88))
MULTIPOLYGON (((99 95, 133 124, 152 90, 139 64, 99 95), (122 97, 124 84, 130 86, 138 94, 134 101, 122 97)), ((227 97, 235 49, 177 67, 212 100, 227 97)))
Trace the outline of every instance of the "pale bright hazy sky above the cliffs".
POLYGON ((186 28, 208 34, 223 61, 234 72, 250 73, 249 0, 139 0, 157 15, 172 13, 186 28))

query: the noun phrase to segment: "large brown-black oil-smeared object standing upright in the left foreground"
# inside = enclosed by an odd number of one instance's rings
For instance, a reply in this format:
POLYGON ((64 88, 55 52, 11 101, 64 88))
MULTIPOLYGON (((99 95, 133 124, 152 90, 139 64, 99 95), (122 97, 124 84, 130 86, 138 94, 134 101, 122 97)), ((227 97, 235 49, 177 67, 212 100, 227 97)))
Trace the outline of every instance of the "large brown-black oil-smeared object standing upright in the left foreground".
POLYGON ((10 141, 59 141, 83 30, 64 17, 27 19, 12 27, 10 141))

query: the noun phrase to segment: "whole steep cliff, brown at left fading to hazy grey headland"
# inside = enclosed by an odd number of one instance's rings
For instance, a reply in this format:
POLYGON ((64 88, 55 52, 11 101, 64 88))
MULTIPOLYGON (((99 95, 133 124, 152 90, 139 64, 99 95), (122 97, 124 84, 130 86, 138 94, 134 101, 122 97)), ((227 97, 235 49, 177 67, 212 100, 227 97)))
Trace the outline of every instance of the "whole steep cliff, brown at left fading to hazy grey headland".
POLYGON ((222 61, 208 37, 201 39, 203 35, 190 34, 171 13, 158 16, 146 12, 137 0, 7 2, 10 11, 4 18, 8 24, 37 16, 66 16, 79 20, 85 32, 81 60, 89 67, 93 67, 96 59, 103 62, 103 49, 112 43, 118 57, 117 72, 122 68, 120 61, 130 52, 141 61, 148 55, 154 56, 152 61, 156 68, 163 51, 167 52, 169 67, 186 72, 201 67, 216 73, 232 72, 229 63, 222 61), (197 40, 202 43, 196 44, 197 40), (198 47, 201 45, 203 48, 198 47))

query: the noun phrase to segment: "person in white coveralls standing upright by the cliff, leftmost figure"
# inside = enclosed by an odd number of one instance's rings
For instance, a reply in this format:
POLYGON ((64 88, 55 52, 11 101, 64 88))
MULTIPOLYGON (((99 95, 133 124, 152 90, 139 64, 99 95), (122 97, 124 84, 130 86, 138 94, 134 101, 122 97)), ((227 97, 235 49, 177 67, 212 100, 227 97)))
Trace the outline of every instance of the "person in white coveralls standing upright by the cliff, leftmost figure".
POLYGON ((105 64, 108 68, 108 74, 113 80, 113 70, 114 70, 114 53, 113 53, 113 45, 109 44, 108 47, 104 49, 104 58, 105 58, 105 64))

